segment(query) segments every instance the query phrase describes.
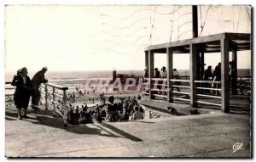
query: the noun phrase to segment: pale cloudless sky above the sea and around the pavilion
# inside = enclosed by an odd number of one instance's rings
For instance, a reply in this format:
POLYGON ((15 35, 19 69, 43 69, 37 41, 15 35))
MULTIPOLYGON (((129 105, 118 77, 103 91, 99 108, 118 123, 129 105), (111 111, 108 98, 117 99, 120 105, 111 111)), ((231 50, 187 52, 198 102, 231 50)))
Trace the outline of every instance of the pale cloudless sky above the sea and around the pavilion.
MULTIPOLYGON (((200 36, 250 33, 250 13, 248 6, 199 6, 200 36)), ((191 17, 189 5, 9 5, 5 71, 143 70, 144 47, 191 38, 191 17)), ((205 55, 207 65, 218 62, 219 53, 205 55)), ((166 54, 155 53, 154 64, 166 65, 166 54)), ((175 54, 173 67, 189 69, 189 54, 175 54)), ((238 68, 250 67, 250 51, 238 52, 238 68)))

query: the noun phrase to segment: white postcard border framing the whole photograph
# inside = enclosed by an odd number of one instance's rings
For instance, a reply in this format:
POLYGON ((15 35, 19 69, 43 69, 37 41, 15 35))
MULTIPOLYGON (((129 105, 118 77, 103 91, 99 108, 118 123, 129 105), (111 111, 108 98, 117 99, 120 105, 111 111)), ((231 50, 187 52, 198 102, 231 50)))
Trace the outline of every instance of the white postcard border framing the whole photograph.
MULTIPOLYGON (((191 1, 191 0, 158 0, 158 1, 153 1, 153 0, 115 0, 115 1, 104 1, 104 0, 90 0, 90 1, 81 1, 81 0, 2 0, 0 1, 0 37, 1 37, 1 41, 0 41, 0 82, 2 84, 0 84, 0 115, 1 115, 1 122, 0 122, 0 161, 15 161, 15 159, 6 159, 4 157, 4 152, 5 152, 5 129, 4 129, 4 116, 5 116, 5 110, 4 110, 4 6, 6 4, 10 4, 10 5, 52 5, 52 4, 57 4, 57 5, 79 5, 79 4, 88 4, 88 5, 97 5, 97 4, 185 4, 185 5, 190 5, 190 4, 251 4, 253 7, 255 7, 255 0, 212 0, 212 1, 205 1, 205 0, 197 0, 197 1, 191 1)), ((254 8, 253 11, 255 12, 254 8)), ((253 13, 254 13, 253 12, 253 13)), ((253 16, 253 22, 255 22, 255 16, 253 16)), ((255 26, 255 25, 254 25, 255 26)), ((253 26, 253 31, 254 31, 254 26, 253 26)), ((18 26, 17 26, 18 27, 18 26)), ((254 41, 253 41, 254 42, 254 41)), ((254 43, 253 43, 253 48, 254 48, 254 43)), ((255 56, 253 57, 253 62, 255 62, 255 56)), ((253 70, 255 70, 255 66, 253 65, 253 70)), ((253 75, 255 75, 255 73, 253 72, 253 75)), ((253 83, 255 83, 255 81, 253 81, 253 83)), ((255 85, 255 84, 253 84, 255 85)), ((254 88, 253 88, 254 90, 254 88)), ((254 92, 254 91, 253 91, 254 92)), ((255 95, 254 95, 255 98, 255 95)), ((254 100, 253 98, 253 100, 254 100)), ((254 100, 255 102, 255 100, 254 100)), ((255 109, 253 110, 253 116, 255 115, 255 109)), ((254 130, 254 126, 253 126, 253 130, 254 130)), ((253 139, 253 142, 255 141, 255 139, 253 139)), ((255 147, 253 147, 255 148, 255 147)), ((255 149, 253 149, 255 150, 255 149)), ((255 154, 253 154, 255 155, 255 154)), ((17 160, 17 159, 16 159, 17 160)), ((22 161, 26 161, 27 159, 22 159, 22 161)), ((29 159, 30 161, 38 161, 38 160, 43 160, 43 159, 29 159)), ((44 159, 44 161, 52 161, 55 159, 44 159)), ((64 161, 64 159, 59 159, 58 161, 64 161)), ((79 160, 79 159, 76 159, 79 160)), ((86 160, 86 161, 90 161, 92 159, 80 159, 80 160, 86 160)), ((103 159, 101 159, 103 160, 103 159)), ((104 159, 104 160, 108 160, 108 161, 112 161, 113 159, 104 159)), ((138 161, 142 161, 143 159, 136 159, 138 161)), ((145 160, 145 159, 144 159, 145 160)), ((146 159, 147 161, 152 161, 150 159, 146 159)), ((170 160, 170 159, 166 159, 166 160, 170 160)), ((171 159, 174 160, 174 159, 171 159)), ((178 159, 176 159, 178 160, 178 159)), ((184 159, 185 161, 188 160, 193 160, 193 159, 184 159)), ((205 160, 205 159, 201 159, 201 160, 205 160)), ((220 161, 230 161, 230 159, 221 159, 220 161)), ((73 159, 65 159, 65 161, 73 161, 73 159)), ((119 161, 119 159, 118 159, 119 161)), ((179 160, 180 161, 180 160, 179 160)), ((239 161, 244 161, 239 159, 239 161)))

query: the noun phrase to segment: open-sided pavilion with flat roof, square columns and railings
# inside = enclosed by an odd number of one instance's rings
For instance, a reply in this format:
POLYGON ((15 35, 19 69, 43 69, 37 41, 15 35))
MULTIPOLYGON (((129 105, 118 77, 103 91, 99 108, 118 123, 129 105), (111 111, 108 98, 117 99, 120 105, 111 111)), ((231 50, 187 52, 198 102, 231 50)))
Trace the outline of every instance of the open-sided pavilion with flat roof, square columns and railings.
MULTIPOLYGON (((145 63, 148 68, 148 79, 154 80, 154 53, 166 53, 167 60, 167 89, 166 99, 172 102, 173 99, 186 100, 183 98, 174 98, 172 82, 175 81, 172 78, 172 63, 174 53, 189 53, 189 103, 192 107, 197 107, 198 103, 206 103, 198 101, 198 97, 214 96, 198 94, 199 88, 196 87, 196 83, 205 83, 209 81, 201 81, 199 74, 200 69, 203 69, 204 53, 221 53, 221 81, 219 81, 221 88, 220 104, 215 104, 221 107, 225 113, 230 112, 230 76, 229 76, 229 53, 232 52, 233 62, 233 75, 232 75, 232 91, 236 93, 237 82, 237 51, 251 50, 251 34, 244 33, 220 33, 211 36, 194 37, 187 40, 177 42, 166 42, 156 45, 151 45, 145 48, 145 63), (199 62, 201 65, 198 66, 199 62)), ((152 84, 152 83, 150 83, 152 84)), ((208 88, 211 89, 211 88, 208 88)), ((214 89, 214 88, 212 88, 214 89)), ((216 88, 218 90, 218 88, 216 88)), ((149 86, 149 96, 154 98, 153 89, 149 86)), ((215 97, 217 98, 217 97, 215 97)))

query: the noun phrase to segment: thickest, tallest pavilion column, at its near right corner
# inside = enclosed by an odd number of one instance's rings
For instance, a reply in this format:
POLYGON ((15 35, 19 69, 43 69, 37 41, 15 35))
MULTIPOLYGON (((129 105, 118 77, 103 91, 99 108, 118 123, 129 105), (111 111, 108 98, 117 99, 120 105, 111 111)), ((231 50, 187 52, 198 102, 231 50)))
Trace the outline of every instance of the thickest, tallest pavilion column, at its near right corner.
POLYGON ((221 109, 230 112, 229 40, 220 40, 221 45, 221 109))

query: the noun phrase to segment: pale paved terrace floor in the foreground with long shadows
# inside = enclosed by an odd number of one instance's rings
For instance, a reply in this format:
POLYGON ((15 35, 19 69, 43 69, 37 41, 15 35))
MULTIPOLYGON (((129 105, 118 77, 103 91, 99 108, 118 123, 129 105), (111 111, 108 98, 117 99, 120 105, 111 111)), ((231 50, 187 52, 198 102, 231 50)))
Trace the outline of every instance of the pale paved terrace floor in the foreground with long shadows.
MULTIPOLYGON (((231 101, 236 101, 233 99, 231 101)), ((241 100, 243 102, 241 102, 241 100)), ((244 113, 183 115, 170 118, 103 122, 63 128, 49 110, 17 120, 6 108, 7 157, 250 157, 250 119, 244 113), (233 153, 233 145, 242 142, 233 153)), ((147 102, 147 101, 145 101, 147 102)), ((244 104, 244 105, 243 105, 244 104)))

